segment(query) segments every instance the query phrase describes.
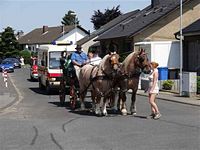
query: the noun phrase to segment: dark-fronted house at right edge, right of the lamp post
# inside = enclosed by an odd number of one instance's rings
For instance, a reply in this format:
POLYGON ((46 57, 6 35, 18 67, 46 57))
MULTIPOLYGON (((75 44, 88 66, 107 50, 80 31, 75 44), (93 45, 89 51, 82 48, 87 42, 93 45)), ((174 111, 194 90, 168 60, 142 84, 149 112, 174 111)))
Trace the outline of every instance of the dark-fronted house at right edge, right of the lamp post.
POLYGON ((200 19, 183 29, 183 70, 200 75, 200 19))

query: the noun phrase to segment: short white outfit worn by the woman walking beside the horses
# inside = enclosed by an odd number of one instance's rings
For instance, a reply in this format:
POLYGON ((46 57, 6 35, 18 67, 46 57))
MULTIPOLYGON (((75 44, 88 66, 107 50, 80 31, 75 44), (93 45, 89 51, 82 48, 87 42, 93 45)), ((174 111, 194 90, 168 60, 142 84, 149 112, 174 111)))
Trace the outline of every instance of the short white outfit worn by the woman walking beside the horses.
POLYGON ((154 71, 149 75, 149 88, 148 88, 148 93, 154 93, 154 94, 158 94, 159 93, 159 86, 158 86, 158 78, 156 80, 156 86, 153 89, 153 91, 151 91, 151 88, 153 86, 153 75, 154 73, 158 73, 158 69, 154 69, 154 71))

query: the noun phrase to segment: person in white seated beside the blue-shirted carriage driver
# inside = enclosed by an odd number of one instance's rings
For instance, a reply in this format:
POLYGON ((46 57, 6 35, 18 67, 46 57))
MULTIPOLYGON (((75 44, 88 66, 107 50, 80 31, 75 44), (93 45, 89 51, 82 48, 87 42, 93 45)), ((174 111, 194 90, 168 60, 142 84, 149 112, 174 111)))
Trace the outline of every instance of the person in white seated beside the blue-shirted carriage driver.
POLYGON ((89 63, 93 66, 99 65, 99 63, 102 60, 102 58, 98 56, 98 53, 93 49, 88 50, 88 58, 89 58, 89 63))

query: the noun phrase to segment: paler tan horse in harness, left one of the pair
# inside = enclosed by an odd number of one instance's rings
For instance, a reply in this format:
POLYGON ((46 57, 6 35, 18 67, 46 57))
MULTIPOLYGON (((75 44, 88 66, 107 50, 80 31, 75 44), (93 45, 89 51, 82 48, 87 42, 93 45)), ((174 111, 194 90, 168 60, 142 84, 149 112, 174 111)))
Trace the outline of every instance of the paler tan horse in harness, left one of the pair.
POLYGON ((98 66, 85 65, 80 70, 80 102, 81 109, 85 109, 84 99, 87 89, 90 88, 95 113, 107 115, 106 99, 113 89, 113 81, 119 71, 119 55, 116 53, 106 55, 98 66), (100 110, 101 98, 104 97, 103 111, 100 110))

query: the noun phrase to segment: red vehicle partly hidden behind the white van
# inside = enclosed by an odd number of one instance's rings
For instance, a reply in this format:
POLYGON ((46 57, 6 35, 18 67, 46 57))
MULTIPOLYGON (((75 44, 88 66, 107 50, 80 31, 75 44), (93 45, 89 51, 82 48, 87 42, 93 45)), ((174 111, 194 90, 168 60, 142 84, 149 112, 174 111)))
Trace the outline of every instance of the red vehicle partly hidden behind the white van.
POLYGON ((31 58, 31 68, 30 68, 30 78, 31 80, 38 79, 38 65, 37 65, 37 58, 31 58))

